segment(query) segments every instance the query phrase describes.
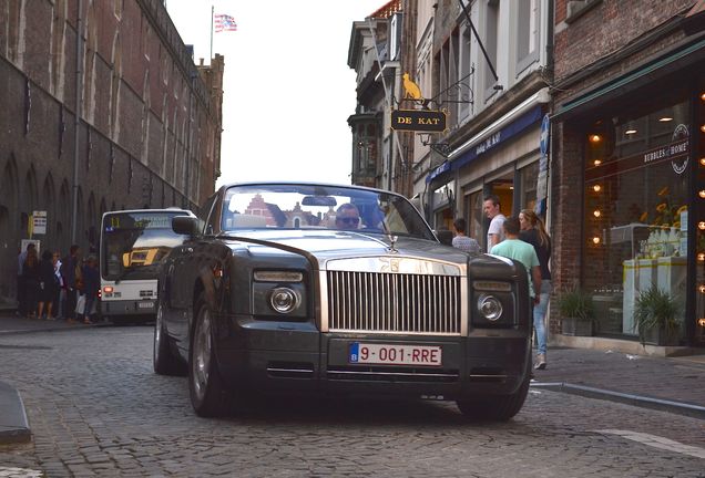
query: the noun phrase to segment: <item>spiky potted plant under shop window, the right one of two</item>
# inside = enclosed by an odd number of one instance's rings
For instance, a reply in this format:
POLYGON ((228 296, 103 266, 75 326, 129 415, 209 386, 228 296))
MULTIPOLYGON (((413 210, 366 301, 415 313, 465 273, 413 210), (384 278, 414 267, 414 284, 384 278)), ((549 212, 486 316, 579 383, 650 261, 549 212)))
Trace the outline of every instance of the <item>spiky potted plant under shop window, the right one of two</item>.
POLYGON ((653 284, 634 300, 634 324, 642 345, 677 345, 678 301, 665 290, 653 284))

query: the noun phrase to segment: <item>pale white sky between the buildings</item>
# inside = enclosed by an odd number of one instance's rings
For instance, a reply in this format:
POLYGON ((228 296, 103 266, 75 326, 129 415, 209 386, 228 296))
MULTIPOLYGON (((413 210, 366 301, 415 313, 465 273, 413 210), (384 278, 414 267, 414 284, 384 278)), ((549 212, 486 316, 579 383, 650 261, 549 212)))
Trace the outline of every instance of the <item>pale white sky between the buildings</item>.
POLYGON ((247 180, 350 184, 356 73, 354 21, 388 0, 166 0, 194 61, 211 58, 211 7, 237 31, 213 34, 225 56, 223 136, 216 187, 247 180))

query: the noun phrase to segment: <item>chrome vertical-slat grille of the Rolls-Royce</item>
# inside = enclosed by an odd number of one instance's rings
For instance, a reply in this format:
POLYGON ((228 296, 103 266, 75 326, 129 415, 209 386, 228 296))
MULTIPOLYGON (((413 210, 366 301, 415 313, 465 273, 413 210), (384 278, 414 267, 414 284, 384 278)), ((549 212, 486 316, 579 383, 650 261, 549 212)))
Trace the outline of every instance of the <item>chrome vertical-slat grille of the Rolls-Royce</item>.
POLYGON ((460 335, 460 276, 327 271, 330 332, 460 335))

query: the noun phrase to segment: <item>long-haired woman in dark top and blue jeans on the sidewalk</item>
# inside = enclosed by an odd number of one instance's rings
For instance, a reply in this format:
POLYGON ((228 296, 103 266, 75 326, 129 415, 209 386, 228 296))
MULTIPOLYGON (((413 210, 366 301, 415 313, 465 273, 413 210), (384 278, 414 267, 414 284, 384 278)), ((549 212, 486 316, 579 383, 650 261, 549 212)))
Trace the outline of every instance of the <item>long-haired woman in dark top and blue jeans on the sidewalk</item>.
POLYGON ((546 334, 545 313, 551 299, 551 237, 545 230, 543 221, 531 209, 522 209, 519 212, 519 224, 521 232, 519 239, 533 246, 539 257, 541 267, 541 290, 539 291, 539 303, 533 308, 533 329, 537 331, 537 363, 534 368, 544 370, 546 367, 546 334))

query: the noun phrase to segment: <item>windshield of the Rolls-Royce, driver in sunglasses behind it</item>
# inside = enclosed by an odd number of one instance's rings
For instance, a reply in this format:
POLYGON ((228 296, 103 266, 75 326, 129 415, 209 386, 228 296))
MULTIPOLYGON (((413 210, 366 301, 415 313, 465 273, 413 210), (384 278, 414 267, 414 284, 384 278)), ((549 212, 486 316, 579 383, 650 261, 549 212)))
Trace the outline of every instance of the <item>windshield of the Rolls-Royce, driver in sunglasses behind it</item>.
POLYGON ((433 240, 405 197, 321 185, 243 185, 227 189, 221 229, 328 229, 433 240))

